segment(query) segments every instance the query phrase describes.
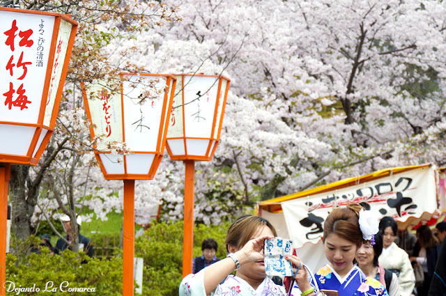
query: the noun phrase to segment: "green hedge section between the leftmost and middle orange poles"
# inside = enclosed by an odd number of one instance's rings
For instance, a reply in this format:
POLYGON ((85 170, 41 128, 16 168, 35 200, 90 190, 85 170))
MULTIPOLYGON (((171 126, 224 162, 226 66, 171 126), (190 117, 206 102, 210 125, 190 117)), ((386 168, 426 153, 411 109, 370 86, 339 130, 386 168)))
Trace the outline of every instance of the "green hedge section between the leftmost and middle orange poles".
POLYGON ((6 295, 45 295, 48 291, 51 295, 122 295, 121 258, 99 260, 72 251, 64 251, 60 256, 50 255, 43 247, 40 254, 27 256, 22 264, 17 264, 17 258, 8 254, 6 265, 7 289, 12 289, 13 285, 16 289, 35 287, 33 291, 15 290, 6 295), (94 288, 94 291, 70 290, 72 288, 94 288))

